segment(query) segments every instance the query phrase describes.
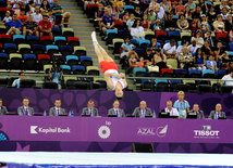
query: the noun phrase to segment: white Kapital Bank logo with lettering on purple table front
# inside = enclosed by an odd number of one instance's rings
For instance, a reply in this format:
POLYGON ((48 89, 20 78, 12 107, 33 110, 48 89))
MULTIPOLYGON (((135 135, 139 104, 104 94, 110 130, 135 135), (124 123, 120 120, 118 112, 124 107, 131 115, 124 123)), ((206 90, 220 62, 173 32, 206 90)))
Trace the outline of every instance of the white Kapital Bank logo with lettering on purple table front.
POLYGON ((30 133, 32 134, 37 134, 37 133, 71 133, 71 129, 68 128, 60 128, 60 127, 54 127, 54 128, 42 128, 38 126, 30 126, 30 133))

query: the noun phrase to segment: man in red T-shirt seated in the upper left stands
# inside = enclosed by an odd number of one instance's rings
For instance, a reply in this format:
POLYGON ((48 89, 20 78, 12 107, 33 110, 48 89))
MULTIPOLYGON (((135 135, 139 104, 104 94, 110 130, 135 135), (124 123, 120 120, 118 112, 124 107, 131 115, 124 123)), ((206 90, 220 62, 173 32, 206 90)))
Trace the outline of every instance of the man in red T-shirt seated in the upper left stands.
POLYGON ((42 20, 39 21, 38 23, 39 36, 41 37, 45 35, 49 35, 51 38, 53 38, 51 28, 52 28, 52 24, 49 21, 48 16, 45 15, 42 20))

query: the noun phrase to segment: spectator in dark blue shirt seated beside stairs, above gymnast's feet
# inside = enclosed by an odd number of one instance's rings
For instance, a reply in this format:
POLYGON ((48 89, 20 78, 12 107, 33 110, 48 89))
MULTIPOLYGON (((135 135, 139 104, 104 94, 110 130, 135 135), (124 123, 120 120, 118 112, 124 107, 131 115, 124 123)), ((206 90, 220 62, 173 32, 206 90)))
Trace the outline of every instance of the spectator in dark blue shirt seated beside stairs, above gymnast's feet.
MULTIPOLYGON (((107 29, 115 29, 118 30, 115 27, 114 27, 114 20, 111 15, 109 15, 109 9, 106 8, 105 10, 105 15, 102 16, 102 20, 101 20, 101 26, 102 26, 102 33, 103 35, 106 36, 106 31, 107 29)), ((106 37, 107 39, 107 37, 106 37)))

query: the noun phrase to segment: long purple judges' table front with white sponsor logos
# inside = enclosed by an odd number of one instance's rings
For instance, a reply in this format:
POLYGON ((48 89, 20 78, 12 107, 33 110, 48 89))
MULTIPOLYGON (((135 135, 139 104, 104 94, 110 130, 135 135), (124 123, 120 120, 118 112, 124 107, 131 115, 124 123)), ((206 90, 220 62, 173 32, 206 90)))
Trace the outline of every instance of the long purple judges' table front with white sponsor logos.
POLYGON ((233 120, 1 116, 0 151, 17 151, 28 144, 28 151, 130 152, 131 144, 139 142, 154 143, 156 152, 208 152, 208 147, 191 151, 191 145, 232 147, 232 128, 233 120), (163 147, 167 144, 169 148, 163 147), (175 151, 171 144, 188 144, 189 148, 175 151))

